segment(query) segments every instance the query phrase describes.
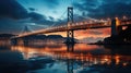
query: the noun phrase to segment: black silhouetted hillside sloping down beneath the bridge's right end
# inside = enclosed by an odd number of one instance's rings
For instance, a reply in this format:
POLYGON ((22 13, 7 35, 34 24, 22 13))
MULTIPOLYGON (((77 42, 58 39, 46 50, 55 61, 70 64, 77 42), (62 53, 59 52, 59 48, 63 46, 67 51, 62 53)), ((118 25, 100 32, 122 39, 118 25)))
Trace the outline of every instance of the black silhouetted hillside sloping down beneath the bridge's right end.
POLYGON ((118 35, 106 37, 104 40, 90 45, 131 45, 131 25, 121 31, 118 35))

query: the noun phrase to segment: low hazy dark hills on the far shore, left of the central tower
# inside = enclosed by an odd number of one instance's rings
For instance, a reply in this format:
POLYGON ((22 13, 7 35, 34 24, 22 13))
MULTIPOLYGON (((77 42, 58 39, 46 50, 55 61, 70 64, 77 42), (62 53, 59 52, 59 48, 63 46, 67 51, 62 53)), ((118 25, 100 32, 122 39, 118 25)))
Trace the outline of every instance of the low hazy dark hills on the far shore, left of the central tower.
MULTIPOLYGON (((11 44, 11 38, 13 34, 0 34, 0 44, 8 45, 11 44)), ((67 40, 67 37, 62 37, 61 35, 31 35, 24 37, 28 40, 28 42, 32 45, 37 44, 37 42, 43 42, 43 44, 63 44, 67 40)), ((24 38, 22 38, 24 40, 24 38)), ((78 39, 74 38, 75 41, 78 39)), ((21 41, 20 41, 21 42, 21 41)))

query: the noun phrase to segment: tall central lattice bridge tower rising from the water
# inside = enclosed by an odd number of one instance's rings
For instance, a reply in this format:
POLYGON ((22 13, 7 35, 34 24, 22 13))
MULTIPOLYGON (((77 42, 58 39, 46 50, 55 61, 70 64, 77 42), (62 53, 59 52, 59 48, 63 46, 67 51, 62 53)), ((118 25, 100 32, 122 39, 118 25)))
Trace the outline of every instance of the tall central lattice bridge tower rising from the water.
POLYGON ((68 31, 67 31, 67 44, 74 44, 74 32, 70 29, 70 26, 73 24, 73 8, 68 8, 68 31))

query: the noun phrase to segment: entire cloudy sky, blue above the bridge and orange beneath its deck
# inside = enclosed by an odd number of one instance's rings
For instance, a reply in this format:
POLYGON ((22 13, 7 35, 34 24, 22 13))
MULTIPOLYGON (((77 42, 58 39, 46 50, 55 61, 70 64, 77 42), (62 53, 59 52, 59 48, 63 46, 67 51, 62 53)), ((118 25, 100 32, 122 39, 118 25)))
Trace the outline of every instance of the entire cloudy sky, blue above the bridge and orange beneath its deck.
MULTIPOLYGON (((131 0, 0 0, 0 34, 63 25, 68 7, 73 7, 75 22, 131 16, 131 0)), ((66 32, 56 34, 66 37, 66 32)), ((109 34, 110 28, 76 31, 75 38, 96 41, 109 34)))

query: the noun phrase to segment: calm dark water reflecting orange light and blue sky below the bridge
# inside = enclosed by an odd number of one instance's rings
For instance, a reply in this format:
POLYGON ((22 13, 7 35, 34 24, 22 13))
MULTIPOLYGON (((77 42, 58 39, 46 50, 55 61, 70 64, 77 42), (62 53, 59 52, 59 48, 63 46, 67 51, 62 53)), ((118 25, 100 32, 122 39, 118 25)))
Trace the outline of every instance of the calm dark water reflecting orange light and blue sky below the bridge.
POLYGON ((131 46, 0 46, 0 73, 131 73, 131 46))

